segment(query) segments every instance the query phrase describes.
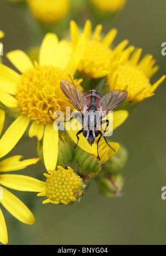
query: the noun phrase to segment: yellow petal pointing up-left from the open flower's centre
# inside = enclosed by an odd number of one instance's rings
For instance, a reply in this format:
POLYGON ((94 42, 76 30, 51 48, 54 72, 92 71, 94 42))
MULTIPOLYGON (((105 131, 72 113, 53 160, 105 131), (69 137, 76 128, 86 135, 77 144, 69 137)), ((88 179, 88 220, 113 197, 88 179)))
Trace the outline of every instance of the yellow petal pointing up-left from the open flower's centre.
POLYGON ((22 50, 13 50, 7 53, 6 56, 21 73, 24 73, 27 69, 33 68, 32 61, 22 50))

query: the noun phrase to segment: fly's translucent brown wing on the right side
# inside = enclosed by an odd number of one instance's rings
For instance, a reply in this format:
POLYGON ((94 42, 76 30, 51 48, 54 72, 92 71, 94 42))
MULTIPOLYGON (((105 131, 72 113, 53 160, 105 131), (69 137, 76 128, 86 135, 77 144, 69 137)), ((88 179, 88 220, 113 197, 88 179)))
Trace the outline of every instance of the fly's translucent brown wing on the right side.
POLYGON ((106 114, 103 117, 105 117, 110 111, 125 101, 127 95, 127 91, 122 90, 114 90, 111 93, 104 95, 98 102, 98 105, 102 107, 102 111, 106 111, 106 114))

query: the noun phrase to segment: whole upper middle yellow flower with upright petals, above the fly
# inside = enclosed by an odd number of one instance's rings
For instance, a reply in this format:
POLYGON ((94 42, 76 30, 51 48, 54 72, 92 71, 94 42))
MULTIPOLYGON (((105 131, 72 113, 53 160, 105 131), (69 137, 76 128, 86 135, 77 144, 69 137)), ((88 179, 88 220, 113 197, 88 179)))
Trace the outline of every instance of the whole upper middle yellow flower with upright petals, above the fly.
MULTIPOLYGON (((86 49, 84 57, 81 59, 77 70, 87 74, 91 78, 100 78, 106 76, 109 73, 110 66, 112 65, 113 58, 126 47, 128 40, 124 40, 122 43, 112 50, 110 45, 116 37, 117 29, 111 29, 106 36, 101 39, 102 25, 96 26, 94 34, 91 37, 92 24, 89 20, 86 21, 83 33, 86 38, 86 49)), ((70 23, 71 40, 73 48, 80 38, 79 28, 74 21, 70 23)))

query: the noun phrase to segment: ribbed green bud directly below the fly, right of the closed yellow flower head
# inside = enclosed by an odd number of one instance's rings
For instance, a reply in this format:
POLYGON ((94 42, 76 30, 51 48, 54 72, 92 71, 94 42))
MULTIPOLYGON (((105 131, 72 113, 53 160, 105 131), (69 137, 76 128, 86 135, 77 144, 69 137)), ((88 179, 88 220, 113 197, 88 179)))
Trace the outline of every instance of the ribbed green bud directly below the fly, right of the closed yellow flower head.
POLYGON ((75 149, 74 161, 79 168, 79 174, 82 175, 96 173, 101 166, 101 163, 96 156, 83 151, 80 147, 76 147, 75 149))

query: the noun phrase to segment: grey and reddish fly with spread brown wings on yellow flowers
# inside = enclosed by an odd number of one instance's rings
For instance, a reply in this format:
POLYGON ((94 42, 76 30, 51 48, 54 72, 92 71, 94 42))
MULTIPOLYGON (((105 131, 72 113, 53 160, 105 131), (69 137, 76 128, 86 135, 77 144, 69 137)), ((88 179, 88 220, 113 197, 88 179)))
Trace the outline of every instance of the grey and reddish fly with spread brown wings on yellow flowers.
MULTIPOLYGON (((109 120, 102 121, 101 117, 105 117, 110 111, 125 101, 128 95, 127 91, 113 90, 111 93, 107 93, 101 98, 100 94, 96 90, 90 90, 86 94, 82 93, 81 90, 76 88, 73 83, 66 79, 61 80, 60 87, 66 97, 71 101, 72 105, 77 111, 80 111, 82 115, 83 127, 76 134, 77 144, 79 143, 79 135, 81 133, 86 137, 86 140, 91 146, 94 144, 98 135, 100 135, 97 140, 97 155, 100 160, 100 156, 98 154, 98 142, 102 136, 105 139, 106 144, 111 147, 104 136, 109 125, 109 120), (102 115, 103 111, 105 115, 102 115), (98 116, 100 116, 100 119, 98 119, 98 116), (106 128, 102 133, 99 130, 99 127, 103 122, 106 122, 106 128)), ((73 117, 71 117, 71 119, 72 118, 73 117)), ((112 150, 115 151, 114 149, 112 150)))

